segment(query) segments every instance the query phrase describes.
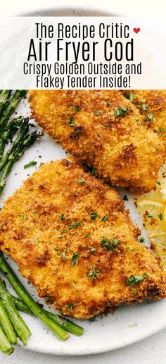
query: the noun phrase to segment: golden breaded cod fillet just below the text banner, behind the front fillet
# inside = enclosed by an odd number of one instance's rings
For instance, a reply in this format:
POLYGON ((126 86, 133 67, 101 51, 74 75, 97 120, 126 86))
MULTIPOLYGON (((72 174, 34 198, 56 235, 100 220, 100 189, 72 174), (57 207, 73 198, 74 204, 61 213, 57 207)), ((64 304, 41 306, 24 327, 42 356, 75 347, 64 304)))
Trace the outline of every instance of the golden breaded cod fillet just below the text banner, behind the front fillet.
POLYGON ((112 186, 150 191, 165 162, 162 138, 120 91, 30 91, 32 116, 112 186))

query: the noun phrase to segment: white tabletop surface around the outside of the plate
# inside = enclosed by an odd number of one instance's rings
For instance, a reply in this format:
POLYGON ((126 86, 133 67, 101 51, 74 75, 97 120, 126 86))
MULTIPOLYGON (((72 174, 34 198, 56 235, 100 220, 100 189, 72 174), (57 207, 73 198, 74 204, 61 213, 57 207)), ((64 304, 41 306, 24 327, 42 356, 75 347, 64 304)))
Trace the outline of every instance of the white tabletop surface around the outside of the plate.
MULTIPOLYGON (((105 10, 108 6, 108 9, 117 15, 165 16, 165 0, 5 0, 1 1, 0 16, 13 16, 25 11, 34 11, 37 8, 53 8, 53 6, 60 6, 62 8, 66 4, 76 8, 76 4, 80 6, 81 3, 84 4, 84 7, 87 6, 87 8, 92 10, 94 8, 96 10, 101 8, 102 10, 102 7, 105 10)), ((0 353, 0 361, 3 364, 164 364, 165 358, 166 328, 158 332, 158 334, 131 346, 94 356, 49 356, 27 351, 20 347, 15 348, 14 353, 10 357, 0 353)))

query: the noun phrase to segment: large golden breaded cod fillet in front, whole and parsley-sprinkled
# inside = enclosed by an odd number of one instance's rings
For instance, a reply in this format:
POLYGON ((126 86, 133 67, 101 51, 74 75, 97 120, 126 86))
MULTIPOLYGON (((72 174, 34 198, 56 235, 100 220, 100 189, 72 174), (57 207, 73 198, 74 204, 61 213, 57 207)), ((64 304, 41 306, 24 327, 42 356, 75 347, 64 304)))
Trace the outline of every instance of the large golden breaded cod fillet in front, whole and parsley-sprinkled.
POLYGON ((1 250, 39 296, 78 318, 165 297, 162 269, 138 236, 120 195, 73 157, 41 166, 0 212, 1 250))

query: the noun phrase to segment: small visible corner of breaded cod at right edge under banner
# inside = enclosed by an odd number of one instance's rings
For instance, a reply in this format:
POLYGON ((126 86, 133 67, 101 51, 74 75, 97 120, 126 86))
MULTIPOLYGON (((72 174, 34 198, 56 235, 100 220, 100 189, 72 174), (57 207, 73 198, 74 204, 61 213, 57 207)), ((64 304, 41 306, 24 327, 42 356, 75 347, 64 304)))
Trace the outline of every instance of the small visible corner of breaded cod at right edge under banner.
MULTIPOLYGON (((166 133, 166 90, 133 90, 133 104, 143 116, 147 128, 151 128, 160 137, 165 138, 166 133)), ((122 91, 125 97, 131 91, 122 91)), ((132 97, 133 97, 132 96, 132 97)))

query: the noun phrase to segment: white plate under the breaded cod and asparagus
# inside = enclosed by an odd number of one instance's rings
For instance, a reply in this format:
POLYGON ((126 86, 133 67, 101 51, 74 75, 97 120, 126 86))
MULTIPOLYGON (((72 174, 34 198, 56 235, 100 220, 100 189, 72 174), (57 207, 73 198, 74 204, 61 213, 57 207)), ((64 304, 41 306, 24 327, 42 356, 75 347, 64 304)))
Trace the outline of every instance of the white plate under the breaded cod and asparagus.
MULTIPOLYGON (((30 112, 25 101, 21 102, 17 111, 18 114, 22 113, 25 116, 30 112)), ((34 146, 25 152, 20 161, 15 163, 6 183, 3 200, 11 195, 16 188, 19 188, 22 181, 32 174, 41 162, 49 162, 65 156, 62 147, 51 140, 48 135, 45 135, 40 142, 36 142, 34 146), (37 165, 24 169, 24 165, 32 160, 37 161, 37 165)), ((121 193, 124 194, 123 191, 121 193)), ((129 196, 129 193, 127 195, 129 196)), ((141 218, 134 206, 134 196, 130 195, 129 202, 126 202, 126 204, 131 211, 134 223, 138 224, 143 231, 141 218)), ((148 243, 146 231, 143 231, 142 235, 146 238, 146 243, 148 243)), ((11 266, 18 274, 18 269, 13 262, 11 262, 11 266)), ((27 280, 22 277, 20 277, 20 280, 25 284, 30 294, 37 298, 33 287, 27 283, 27 280)), ((39 298, 37 298, 37 301, 44 303, 39 298)), ((137 304, 131 307, 124 305, 114 315, 103 315, 103 317, 98 317, 96 322, 75 320, 84 327, 84 334, 82 337, 71 335, 67 341, 58 340, 39 320, 23 314, 32 331, 32 336, 28 340, 26 348, 41 353, 58 355, 85 355, 121 348, 164 328, 166 325, 165 310, 166 300, 162 300, 137 304)))

